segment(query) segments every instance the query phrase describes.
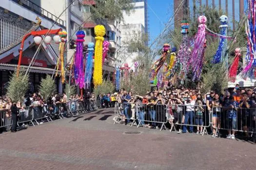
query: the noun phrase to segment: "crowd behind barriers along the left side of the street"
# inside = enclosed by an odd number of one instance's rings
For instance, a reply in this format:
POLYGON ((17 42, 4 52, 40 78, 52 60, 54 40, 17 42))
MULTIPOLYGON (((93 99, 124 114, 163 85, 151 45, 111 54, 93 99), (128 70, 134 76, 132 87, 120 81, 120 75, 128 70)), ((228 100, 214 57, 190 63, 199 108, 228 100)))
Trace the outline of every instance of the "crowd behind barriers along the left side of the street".
POLYGON ((63 119, 110 106, 111 104, 105 102, 102 97, 96 99, 94 94, 91 95, 90 93, 87 93, 83 98, 76 95, 69 99, 65 94, 55 94, 47 100, 42 99, 40 94, 34 93, 25 98, 23 103, 12 101, 7 97, 5 99, 0 97, 0 130, 1 132, 9 131, 11 127, 14 127, 14 130, 11 131, 15 132, 17 127, 22 129, 30 125, 35 126, 43 122, 63 119), (13 113, 15 107, 17 107, 17 113, 13 113))

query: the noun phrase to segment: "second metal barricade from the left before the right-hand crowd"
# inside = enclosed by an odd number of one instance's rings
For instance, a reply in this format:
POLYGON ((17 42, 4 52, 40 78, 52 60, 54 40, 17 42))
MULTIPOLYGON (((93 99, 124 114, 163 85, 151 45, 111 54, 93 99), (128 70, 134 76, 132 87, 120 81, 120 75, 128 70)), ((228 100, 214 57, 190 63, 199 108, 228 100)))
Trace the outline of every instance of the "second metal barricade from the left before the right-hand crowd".
POLYGON ((168 122, 168 108, 166 104, 137 104, 138 127, 148 122, 153 128, 160 131, 165 128, 168 122), (160 127, 161 126, 161 127, 160 127))

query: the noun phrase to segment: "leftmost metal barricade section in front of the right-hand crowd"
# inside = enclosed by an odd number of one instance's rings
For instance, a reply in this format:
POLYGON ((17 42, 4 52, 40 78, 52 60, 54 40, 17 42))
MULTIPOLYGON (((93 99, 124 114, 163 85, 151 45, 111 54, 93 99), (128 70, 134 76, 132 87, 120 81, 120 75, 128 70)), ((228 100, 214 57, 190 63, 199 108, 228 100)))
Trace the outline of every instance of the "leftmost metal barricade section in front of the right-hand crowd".
POLYGON ((136 115, 135 103, 115 103, 115 120, 114 124, 118 123, 129 123, 132 121, 131 126, 136 124, 137 115, 136 115))

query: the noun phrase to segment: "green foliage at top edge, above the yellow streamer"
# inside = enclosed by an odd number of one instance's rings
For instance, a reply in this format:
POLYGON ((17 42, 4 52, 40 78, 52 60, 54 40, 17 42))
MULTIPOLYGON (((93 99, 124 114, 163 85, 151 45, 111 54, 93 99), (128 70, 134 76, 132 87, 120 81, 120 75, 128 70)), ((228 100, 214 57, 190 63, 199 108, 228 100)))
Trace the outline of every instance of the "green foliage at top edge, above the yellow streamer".
POLYGON ((94 19, 123 20, 124 10, 127 14, 133 9, 133 0, 95 0, 96 5, 90 5, 94 19))

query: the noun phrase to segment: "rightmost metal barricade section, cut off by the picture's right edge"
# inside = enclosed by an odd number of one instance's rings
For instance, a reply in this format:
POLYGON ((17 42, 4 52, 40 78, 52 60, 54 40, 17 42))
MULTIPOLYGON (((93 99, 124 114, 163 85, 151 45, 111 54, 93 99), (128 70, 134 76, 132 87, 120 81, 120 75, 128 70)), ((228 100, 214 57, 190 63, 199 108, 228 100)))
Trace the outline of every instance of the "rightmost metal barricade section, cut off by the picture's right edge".
POLYGON ((247 137, 256 133, 256 108, 213 107, 212 128, 214 137, 219 130, 226 130, 235 137, 236 132, 243 132, 247 137))

